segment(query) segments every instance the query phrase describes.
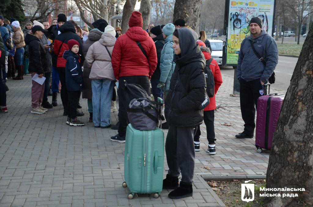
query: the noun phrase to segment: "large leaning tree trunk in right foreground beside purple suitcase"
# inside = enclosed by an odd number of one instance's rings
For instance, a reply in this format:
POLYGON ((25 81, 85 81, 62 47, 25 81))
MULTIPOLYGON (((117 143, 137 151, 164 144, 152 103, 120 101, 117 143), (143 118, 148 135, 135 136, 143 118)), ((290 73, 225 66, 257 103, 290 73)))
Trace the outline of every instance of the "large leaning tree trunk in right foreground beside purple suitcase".
POLYGON ((267 188, 304 188, 299 197, 273 197, 269 206, 313 204, 313 23, 283 102, 266 173, 267 188))

